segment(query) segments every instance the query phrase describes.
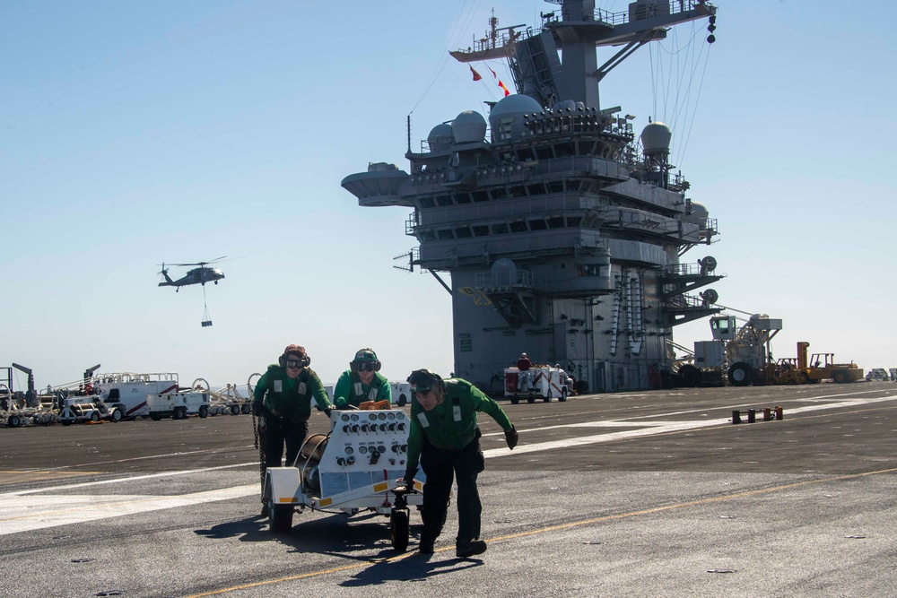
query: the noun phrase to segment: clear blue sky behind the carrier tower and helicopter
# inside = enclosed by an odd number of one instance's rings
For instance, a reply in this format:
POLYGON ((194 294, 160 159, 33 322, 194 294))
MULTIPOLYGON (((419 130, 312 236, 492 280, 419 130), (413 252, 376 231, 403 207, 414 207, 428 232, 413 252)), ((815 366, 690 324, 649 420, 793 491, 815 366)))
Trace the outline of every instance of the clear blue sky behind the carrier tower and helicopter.
MULTIPOLYGON (((706 22, 677 28, 605 79, 602 104, 637 130, 674 126, 675 163, 721 233, 684 259, 717 258, 721 304, 784 320, 777 357, 806 340, 897 366, 897 8, 716 4, 717 43, 700 41, 706 22), (700 55, 684 49, 692 36, 700 55), (690 71, 687 56, 701 56, 690 88, 657 83, 690 71)), ((409 113, 419 149, 432 126, 500 97, 446 60, 492 8, 506 26, 557 6, 0 4, 0 366, 33 368, 39 386, 97 363, 242 385, 297 342, 329 382, 364 346, 390 379, 448 375, 448 293, 393 268, 415 245, 409 211, 361 208, 339 183, 370 161, 407 169, 409 113), (206 287, 203 328, 203 290, 157 287, 156 264, 217 256, 242 257, 206 287)), ((708 338, 706 321, 675 329, 686 346, 708 338)))

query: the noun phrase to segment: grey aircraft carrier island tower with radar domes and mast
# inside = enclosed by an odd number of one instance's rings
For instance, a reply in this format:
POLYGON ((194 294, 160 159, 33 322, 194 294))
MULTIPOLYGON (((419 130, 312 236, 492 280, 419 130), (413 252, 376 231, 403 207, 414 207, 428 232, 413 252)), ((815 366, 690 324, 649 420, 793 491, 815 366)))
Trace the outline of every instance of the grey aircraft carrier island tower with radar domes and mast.
POLYGON ((720 278, 716 261, 682 257, 710 244, 716 222, 671 172, 670 129, 650 123, 636 139, 632 117, 601 108, 598 82, 677 23, 709 18, 712 42, 716 8, 554 4, 539 30, 499 30, 493 18, 475 48, 451 53, 509 61, 518 93, 492 105, 488 124, 463 111, 421 152, 409 147, 410 172, 371 163, 342 185, 361 206, 414 208, 410 260, 452 295, 456 376, 501 392, 504 368, 526 352, 560 364, 580 392, 658 386, 673 327, 719 311, 715 291, 690 294, 720 278), (598 65, 607 46, 620 48, 598 65))

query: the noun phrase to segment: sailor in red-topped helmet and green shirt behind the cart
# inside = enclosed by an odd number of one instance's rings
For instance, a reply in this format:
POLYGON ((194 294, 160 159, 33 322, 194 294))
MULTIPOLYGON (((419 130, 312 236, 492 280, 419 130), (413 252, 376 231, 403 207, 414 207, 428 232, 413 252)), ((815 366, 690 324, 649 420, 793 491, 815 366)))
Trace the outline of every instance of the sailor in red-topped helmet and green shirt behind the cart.
POLYGON ((292 466, 299 455, 302 442, 309 435, 311 399, 330 414, 333 405, 327 398, 327 390, 318 374, 309 364, 311 358, 305 347, 291 344, 283 350, 276 365, 268 366, 258 378, 253 393, 252 409, 258 417, 259 445, 264 450, 262 467, 262 516, 267 516, 265 471, 268 467, 280 467, 283 443, 286 443, 286 464, 292 466))

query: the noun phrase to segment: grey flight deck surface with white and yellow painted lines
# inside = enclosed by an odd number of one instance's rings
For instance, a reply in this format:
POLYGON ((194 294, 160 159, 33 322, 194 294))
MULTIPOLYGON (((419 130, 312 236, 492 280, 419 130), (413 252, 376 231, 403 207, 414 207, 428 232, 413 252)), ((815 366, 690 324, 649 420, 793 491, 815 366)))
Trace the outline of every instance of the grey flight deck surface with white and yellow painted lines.
MULTIPOLYGON (((0 429, 0 554, 30 571, 3 594, 353 595, 411 579, 475 594, 496 578, 498 595, 894 594, 897 385, 502 404, 520 445, 481 421, 489 550, 468 561, 454 504, 430 558, 394 559, 373 514, 306 510, 271 535, 249 416, 0 429), (783 419, 762 421, 776 406, 783 419), (748 409, 755 423, 730 422, 748 409)), ((326 426, 313 414, 312 433, 326 426)), ((410 550, 419 526, 413 512, 410 550)))

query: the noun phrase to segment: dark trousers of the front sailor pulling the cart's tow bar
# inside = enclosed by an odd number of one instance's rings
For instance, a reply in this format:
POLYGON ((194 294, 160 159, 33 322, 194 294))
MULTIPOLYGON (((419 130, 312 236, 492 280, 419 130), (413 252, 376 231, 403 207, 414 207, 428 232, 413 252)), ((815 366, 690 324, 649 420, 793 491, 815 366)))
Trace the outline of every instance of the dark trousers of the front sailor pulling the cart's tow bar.
POLYGON ((457 476, 457 537, 463 544, 480 537, 480 493, 476 490, 476 475, 486 462, 480 450, 480 429, 464 448, 436 448, 424 434, 421 447, 421 466, 427 475, 423 485, 421 543, 435 542, 442 532, 448 511, 451 484, 457 476))

